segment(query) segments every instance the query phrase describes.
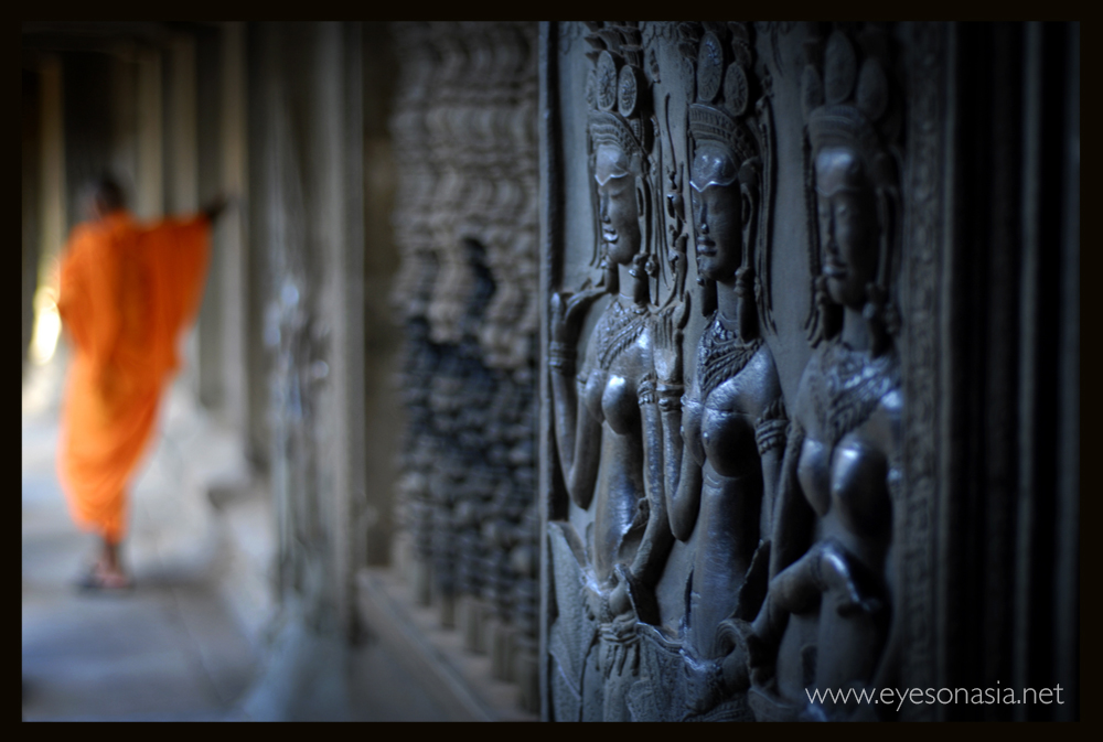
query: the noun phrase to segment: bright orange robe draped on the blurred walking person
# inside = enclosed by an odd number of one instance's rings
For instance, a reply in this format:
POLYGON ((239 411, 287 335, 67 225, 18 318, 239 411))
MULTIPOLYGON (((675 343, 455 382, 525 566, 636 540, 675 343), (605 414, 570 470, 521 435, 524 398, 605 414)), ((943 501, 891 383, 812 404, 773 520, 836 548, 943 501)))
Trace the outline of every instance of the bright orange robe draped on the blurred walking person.
POLYGON ((117 544, 130 477, 152 438, 176 344, 210 255, 204 216, 143 226, 125 212, 78 225, 58 311, 73 341, 57 467, 74 520, 117 544))

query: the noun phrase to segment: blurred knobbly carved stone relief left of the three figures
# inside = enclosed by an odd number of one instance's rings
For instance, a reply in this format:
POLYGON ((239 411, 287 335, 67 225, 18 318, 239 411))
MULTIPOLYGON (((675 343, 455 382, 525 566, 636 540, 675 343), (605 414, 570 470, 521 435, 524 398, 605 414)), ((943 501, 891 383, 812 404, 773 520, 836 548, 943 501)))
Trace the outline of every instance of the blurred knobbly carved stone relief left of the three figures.
MULTIPOLYGON (((536 686, 536 26, 396 24, 406 325, 400 519, 415 592, 536 686)), ((527 684, 527 685, 526 685, 527 684)))

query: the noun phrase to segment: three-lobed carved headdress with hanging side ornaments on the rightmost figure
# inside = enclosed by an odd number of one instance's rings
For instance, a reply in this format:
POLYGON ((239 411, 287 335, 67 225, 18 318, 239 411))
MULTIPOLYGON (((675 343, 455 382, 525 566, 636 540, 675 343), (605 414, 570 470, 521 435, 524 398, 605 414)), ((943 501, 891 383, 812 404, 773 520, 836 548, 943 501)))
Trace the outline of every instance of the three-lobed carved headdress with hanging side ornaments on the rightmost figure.
MULTIPOLYGON (((899 311, 891 292, 899 245, 899 168, 893 139, 899 130, 900 110, 892 105, 892 90, 881 61, 887 50, 885 33, 869 28, 859 41, 864 58, 859 58, 846 33, 835 30, 824 50, 823 76, 815 64, 808 64, 801 87, 813 159, 831 147, 849 149, 860 159, 877 193, 880 236, 877 277, 869 287, 864 314, 881 336, 875 343, 875 352, 879 353, 887 342, 885 334, 895 335, 899 331, 899 311)), ((816 279, 815 303, 820 316, 813 344, 833 335, 837 326, 837 321, 829 316, 822 276, 816 279)))

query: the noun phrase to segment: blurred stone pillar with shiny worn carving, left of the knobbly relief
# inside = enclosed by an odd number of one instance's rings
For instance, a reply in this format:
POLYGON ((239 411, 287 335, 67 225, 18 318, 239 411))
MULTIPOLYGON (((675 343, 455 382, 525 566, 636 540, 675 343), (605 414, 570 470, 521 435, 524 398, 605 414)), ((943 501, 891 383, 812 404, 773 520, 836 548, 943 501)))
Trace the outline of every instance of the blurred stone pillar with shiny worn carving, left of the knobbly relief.
POLYGON ((265 714, 340 718, 364 497, 361 29, 265 23, 249 44, 250 293, 264 322, 251 384, 265 391, 250 412, 267 418, 276 642, 297 647, 269 667, 265 714))

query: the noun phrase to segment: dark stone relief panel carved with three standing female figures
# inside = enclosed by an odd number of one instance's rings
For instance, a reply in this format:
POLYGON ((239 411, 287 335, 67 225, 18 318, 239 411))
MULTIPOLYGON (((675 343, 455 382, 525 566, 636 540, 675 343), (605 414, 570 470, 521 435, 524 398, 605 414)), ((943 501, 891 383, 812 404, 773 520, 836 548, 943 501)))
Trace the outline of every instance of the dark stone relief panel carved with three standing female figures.
POLYGON ((554 31, 548 716, 852 718, 806 691, 899 663, 900 42, 554 31))

